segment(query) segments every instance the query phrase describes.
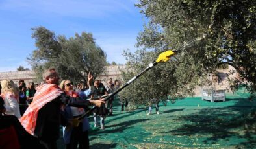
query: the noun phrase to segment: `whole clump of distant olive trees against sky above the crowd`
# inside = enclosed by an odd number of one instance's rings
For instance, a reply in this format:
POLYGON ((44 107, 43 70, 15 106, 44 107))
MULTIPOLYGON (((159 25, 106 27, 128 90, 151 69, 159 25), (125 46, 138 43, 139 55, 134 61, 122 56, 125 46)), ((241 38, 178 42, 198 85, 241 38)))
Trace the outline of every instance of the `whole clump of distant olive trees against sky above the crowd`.
POLYGON ((45 27, 35 27, 32 31, 38 49, 28 60, 37 80, 42 80, 43 71, 49 67, 55 67, 61 78, 77 82, 85 81, 89 71, 97 77, 104 70, 106 54, 96 45, 92 34, 83 32, 67 39, 55 36, 45 27))

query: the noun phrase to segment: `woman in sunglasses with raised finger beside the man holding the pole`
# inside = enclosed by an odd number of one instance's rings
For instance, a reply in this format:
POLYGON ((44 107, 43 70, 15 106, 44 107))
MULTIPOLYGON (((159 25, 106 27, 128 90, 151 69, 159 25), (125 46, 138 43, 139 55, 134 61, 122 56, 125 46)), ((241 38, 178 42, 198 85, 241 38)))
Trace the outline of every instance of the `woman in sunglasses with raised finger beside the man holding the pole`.
MULTIPOLYGON (((89 73, 90 74, 90 73, 89 73)), ((90 86, 92 82, 92 76, 88 75, 88 85, 89 89, 84 91, 84 95, 88 97, 90 93, 92 93, 92 86, 90 86)), ((69 95, 70 97, 78 97, 77 92, 73 90, 73 82, 70 80, 62 80, 60 83, 60 89, 69 95)), ((66 106, 64 109, 64 115, 66 119, 75 119, 80 117, 84 113, 83 108, 76 108, 71 106, 66 106)), ((77 148, 77 144, 79 144, 79 148, 89 148, 89 137, 88 130, 90 128, 89 121, 87 117, 84 117, 83 122, 80 122, 79 126, 71 126, 70 128, 64 127, 64 143, 66 144, 66 148, 77 148)))

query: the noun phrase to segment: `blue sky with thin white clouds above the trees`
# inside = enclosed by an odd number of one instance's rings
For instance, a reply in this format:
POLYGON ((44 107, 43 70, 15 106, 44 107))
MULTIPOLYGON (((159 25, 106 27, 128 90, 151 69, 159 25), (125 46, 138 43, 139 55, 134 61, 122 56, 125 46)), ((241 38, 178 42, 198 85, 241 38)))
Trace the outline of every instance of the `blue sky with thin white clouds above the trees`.
POLYGON ((136 0, 1 0, 0 72, 31 69, 27 57, 36 50, 31 28, 43 26, 67 38, 90 32, 107 61, 125 64, 123 50, 136 51, 145 17, 136 0))

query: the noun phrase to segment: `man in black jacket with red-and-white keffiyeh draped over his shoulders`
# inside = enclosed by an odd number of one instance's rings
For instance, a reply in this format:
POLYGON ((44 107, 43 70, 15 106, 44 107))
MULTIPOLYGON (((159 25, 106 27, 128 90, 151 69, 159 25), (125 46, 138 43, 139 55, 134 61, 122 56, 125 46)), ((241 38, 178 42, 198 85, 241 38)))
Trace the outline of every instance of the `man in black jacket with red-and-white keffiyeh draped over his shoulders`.
POLYGON ((84 108, 90 104, 100 107, 104 99, 80 100, 67 96, 57 86, 58 73, 55 69, 47 69, 44 75, 45 84, 38 86, 33 102, 19 119, 27 132, 38 137, 45 148, 57 148, 61 111, 65 105, 84 108))

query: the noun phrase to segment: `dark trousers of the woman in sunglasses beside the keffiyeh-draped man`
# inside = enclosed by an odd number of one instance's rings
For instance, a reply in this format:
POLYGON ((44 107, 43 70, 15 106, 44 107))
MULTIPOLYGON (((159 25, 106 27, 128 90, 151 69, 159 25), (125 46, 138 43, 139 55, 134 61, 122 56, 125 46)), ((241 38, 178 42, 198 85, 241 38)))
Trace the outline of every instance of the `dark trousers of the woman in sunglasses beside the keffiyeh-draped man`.
POLYGON ((90 148, 88 130, 83 132, 83 123, 72 129, 70 144, 66 145, 66 149, 75 149, 79 144, 80 149, 90 148))

